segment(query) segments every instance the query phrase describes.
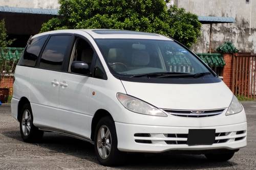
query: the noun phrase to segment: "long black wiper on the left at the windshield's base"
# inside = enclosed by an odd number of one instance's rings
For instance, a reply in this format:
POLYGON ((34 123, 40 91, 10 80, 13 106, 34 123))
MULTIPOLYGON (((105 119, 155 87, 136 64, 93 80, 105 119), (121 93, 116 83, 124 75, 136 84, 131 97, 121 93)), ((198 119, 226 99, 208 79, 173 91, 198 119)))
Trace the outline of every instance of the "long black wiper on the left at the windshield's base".
POLYGON ((176 77, 176 76, 193 76, 193 74, 188 74, 186 72, 152 72, 152 73, 146 73, 146 74, 139 74, 139 75, 133 75, 132 77, 156 77, 156 78, 162 78, 162 77, 176 77))

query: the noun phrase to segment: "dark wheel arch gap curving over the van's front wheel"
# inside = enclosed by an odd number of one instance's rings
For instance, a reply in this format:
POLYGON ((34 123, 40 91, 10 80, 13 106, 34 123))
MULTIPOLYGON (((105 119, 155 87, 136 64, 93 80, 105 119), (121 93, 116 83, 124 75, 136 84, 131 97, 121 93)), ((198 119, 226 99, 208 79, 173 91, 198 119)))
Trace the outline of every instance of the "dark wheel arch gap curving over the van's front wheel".
POLYGON ((105 117, 105 116, 109 116, 111 117, 111 119, 113 120, 114 122, 114 119, 113 119, 113 116, 110 114, 110 112, 104 110, 104 109, 99 109, 95 112, 94 116, 93 116, 93 119, 92 119, 92 125, 91 125, 91 140, 94 141, 94 135, 95 135, 95 129, 96 129, 96 126, 97 126, 97 123, 99 122, 99 120, 102 118, 102 117, 105 117))

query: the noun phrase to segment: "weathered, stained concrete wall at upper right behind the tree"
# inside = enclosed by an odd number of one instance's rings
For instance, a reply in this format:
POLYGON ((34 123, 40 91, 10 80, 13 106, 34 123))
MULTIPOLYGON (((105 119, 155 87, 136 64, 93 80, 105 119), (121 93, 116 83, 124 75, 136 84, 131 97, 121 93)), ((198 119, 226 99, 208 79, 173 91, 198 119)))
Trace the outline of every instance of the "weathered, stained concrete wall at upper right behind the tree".
MULTIPOLYGON (((246 0, 176 0, 179 8, 198 16, 226 16, 236 19, 235 23, 218 23, 212 25, 212 50, 231 41, 240 52, 256 53, 256 1, 252 1, 251 35, 249 35, 250 3, 246 0)), ((202 36, 192 47, 193 51, 206 53, 209 48, 209 25, 203 25, 202 36)))

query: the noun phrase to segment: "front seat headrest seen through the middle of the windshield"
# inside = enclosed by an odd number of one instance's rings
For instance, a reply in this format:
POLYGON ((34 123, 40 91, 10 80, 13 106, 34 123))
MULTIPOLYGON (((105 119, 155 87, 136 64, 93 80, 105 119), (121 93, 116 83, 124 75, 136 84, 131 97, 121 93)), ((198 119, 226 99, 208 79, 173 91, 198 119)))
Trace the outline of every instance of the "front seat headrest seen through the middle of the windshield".
POLYGON ((135 51, 132 55, 133 66, 146 66, 150 63, 150 55, 145 51, 135 51))

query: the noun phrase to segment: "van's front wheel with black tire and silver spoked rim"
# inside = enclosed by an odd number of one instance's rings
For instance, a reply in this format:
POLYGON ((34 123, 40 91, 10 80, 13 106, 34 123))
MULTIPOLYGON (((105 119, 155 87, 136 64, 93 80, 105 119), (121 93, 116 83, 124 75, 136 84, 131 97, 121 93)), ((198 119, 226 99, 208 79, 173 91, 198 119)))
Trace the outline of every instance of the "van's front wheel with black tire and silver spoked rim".
POLYGON ((116 128, 111 117, 105 116, 99 120, 94 135, 94 148, 100 164, 115 166, 124 163, 125 154, 117 149, 116 128))

